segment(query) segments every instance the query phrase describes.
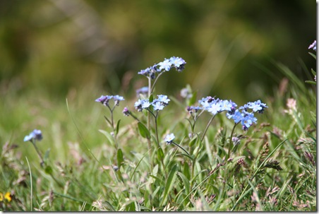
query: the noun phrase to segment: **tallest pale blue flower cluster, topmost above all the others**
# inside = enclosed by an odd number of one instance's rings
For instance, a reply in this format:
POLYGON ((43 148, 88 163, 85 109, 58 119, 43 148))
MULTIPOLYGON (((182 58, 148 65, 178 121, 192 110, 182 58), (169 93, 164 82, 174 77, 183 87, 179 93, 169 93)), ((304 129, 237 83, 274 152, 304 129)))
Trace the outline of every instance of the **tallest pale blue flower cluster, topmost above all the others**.
POLYGON ((153 66, 148 67, 147 69, 143 69, 138 74, 142 74, 144 76, 148 76, 152 79, 155 79, 156 73, 160 73, 162 71, 169 71, 171 68, 175 68, 176 71, 183 71, 185 69, 186 61, 181 57, 171 57, 169 59, 164 59, 164 61, 159 62, 153 66))

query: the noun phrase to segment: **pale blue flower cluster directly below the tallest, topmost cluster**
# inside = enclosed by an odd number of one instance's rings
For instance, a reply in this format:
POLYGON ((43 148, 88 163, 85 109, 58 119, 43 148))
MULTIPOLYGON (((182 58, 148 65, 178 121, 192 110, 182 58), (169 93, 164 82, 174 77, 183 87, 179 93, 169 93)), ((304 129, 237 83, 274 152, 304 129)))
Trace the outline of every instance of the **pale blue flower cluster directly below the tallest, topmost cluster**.
POLYGON ((148 109, 152 105, 155 111, 159 111, 169 105, 169 101, 170 100, 167 98, 167 95, 157 95, 157 99, 152 102, 148 99, 139 99, 135 102, 134 107, 138 110, 138 112, 142 112, 143 109, 148 109))

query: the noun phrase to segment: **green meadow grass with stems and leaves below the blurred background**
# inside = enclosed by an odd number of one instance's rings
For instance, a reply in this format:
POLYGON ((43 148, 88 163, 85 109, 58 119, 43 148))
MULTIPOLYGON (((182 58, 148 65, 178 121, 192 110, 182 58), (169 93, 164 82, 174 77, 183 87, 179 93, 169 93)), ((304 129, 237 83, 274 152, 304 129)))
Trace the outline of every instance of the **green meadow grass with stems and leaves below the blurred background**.
MULTIPOLYGON (((213 114, 204 111, 194 124, 195 111, 186 109, 200 97, 190 87, 183 100, 168 95, 161 111, 138 112, 138 99, 124 96, 112 114, 94 102, 100 94, 92 88, 61 100, 8 90, 0 104, 0 209, 317 210, 315 89, 274 64, 289 84, 262 97, 267 108, 246 131, 233 129, 225 112, 210 123, 213 114), (23 142, 33 129, 43 134, 33 142, 42 165, 32 143, 23 142), (169 133, 174 138, 165 138, 169 133)), ((144 98, 152 101, 163 93, 152 91, 157 78, 148 79, 144 98)))

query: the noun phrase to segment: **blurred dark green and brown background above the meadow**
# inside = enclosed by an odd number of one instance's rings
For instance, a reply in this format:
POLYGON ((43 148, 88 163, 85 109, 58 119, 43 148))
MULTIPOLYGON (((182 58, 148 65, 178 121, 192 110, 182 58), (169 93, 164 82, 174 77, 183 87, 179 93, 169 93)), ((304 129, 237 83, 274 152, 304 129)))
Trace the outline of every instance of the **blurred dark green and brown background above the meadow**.
MULTIPOLYGON (((157 93, 239 102, 271 95, 282 74, 272 60, 308 80, 316 38, 316 3, 306 0, 8 0, 0 1, 0 89, 71 92, 126 99, 147 84, 138 71, 171 56, 183 73, 163 75, 157 93), (271 71, 271 78, 263 71, 271 71)), ((92 99, 93 99, 92 98, 92 99)))

